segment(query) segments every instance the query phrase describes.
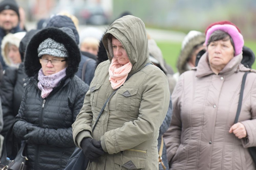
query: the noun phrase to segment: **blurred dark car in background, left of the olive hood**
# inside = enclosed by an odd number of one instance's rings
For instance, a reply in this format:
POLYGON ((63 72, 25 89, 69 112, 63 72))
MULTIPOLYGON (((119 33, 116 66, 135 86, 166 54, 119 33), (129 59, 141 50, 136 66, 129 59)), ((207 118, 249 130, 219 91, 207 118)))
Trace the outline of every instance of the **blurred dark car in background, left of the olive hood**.
POLYGON ((109 23, 110 17, 100 5, 85 5, 75 14, 81 24, 104 25, 109 23))

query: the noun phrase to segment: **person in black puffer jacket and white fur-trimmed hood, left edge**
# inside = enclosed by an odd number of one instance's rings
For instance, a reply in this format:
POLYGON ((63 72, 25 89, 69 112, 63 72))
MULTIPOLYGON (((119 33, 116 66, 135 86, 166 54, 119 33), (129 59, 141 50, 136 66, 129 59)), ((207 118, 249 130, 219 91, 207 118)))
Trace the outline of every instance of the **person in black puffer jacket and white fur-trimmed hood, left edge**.
MULTIPOLYGON (((1 131, 1 135, 5 137, 8 130, 15 121, 15 116, 18 114, 19 106, 22 100, 22 95, 25 87, 28 83, 28 76, 24 70, 24 54, 26 50, 26 45, 36 30, 30 30, 29 32, 18 32, 15 34, 9 33, 6 35, 2 41, 2 54, 4 58, 8 58, 10 45, 15 46, 17 49, 16 57, 19 58, 21 63, 12 67, 11 62, 6 62, 8 67, 5 70, 3 83, 0 88, 0 96, 3 100, 3 120, 4 126, 1 131), (6 56, 7 55, 7 56, 6 56), (16 67, 18 66, 18 67, 16 67)), ((12 54, 13 55, 13 54, 12 54)), ((9 61, 8 59, 5 61, 9 61)), ((11 155, 11 143, 12 138, 8 142, 8 147, 6 148, 7 155, 11 155)))

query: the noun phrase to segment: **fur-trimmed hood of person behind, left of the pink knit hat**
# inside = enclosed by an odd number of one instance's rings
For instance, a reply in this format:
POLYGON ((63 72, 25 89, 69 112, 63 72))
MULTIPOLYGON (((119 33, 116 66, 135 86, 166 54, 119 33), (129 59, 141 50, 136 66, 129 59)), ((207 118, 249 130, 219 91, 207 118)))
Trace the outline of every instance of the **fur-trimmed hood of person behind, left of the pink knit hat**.
POLYGON ((192 52, 195 46, 199 44, 203 44, 204 41, 205 41, 205 35, 203 33, 200 33, 187 39, 186 43, 183 43, 183 46, 176 64, 176 67, 180 74, 191 69, 187 63, 190 53, 192 52))

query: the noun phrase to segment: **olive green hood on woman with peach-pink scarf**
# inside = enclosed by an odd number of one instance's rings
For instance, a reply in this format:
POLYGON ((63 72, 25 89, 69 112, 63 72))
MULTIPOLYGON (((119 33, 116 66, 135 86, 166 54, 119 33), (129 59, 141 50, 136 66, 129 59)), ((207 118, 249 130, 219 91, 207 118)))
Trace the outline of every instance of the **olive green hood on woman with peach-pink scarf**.
POLYGON ((146 29, 140 18, 132 15, 119 18, 111 24, 108 31, 103 36, 103 45, 106 48, 111 62, 114 55, 109 34, 112 34, 123 44, 132 64, 132 69, 129 74, 140 70, 146 63, 150 62, 148 59, 149 51, 146 29))

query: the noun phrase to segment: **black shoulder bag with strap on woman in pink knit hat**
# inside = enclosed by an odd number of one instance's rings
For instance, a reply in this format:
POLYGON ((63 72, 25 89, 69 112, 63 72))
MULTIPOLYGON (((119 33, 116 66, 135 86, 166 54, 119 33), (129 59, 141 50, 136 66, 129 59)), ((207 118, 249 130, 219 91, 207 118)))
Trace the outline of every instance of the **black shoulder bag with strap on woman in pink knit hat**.
MULTIPOLYGON (((240 96, 239 96, 239 101, 238 101, 238 106, 237 106, 237 114, 236 114, 234 124, 236 124, 238 122, 238 118, 239 118, 239 115, 241 112, 243 93, 244 93, 244 85, 245 85, 245 80, 246 80, 246 76, 248 73, 250 73, 250 71, 245 72, 243 79, 242 79, 241 91, 240 91, 240 96)), ((248 151, 249 151, 250 155, 252 156, 254 164, 256 165, 256 147, 249 147, 248 151)))

